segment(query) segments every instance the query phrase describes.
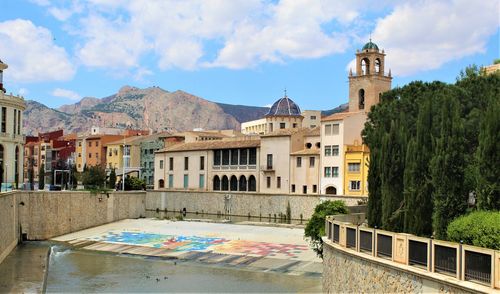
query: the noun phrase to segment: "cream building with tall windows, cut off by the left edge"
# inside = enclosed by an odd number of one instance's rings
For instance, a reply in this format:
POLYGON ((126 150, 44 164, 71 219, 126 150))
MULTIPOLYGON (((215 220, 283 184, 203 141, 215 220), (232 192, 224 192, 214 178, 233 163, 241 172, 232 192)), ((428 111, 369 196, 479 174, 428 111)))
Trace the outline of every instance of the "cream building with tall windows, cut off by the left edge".
POLYGON ((0 178, 2 191, 19 187, 23 180, 24 130, 26 103, 20 96, 8 95, 3 84, 7 64, 0 60, 0 178))

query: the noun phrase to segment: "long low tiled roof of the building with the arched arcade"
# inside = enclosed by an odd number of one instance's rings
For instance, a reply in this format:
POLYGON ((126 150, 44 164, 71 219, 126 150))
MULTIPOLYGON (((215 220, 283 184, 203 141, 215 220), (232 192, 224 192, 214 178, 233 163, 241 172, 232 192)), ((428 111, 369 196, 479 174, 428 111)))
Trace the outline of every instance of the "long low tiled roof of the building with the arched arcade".
POLYGON ((181 151, 195 151, 195 150, 213 150, 213 149, 232 149, 232 148, 253 148, 259 147, 260 140, 217 140, 217 141, 203 141, 176 144, 172 147, 165 148, 159 152, 181 152, 181 151))

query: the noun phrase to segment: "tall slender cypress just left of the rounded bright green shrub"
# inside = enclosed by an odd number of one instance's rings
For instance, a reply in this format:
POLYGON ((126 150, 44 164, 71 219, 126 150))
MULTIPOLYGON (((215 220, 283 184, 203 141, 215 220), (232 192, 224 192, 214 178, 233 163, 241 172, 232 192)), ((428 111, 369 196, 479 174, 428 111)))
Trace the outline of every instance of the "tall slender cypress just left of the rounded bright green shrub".
POLYGON ((441 134, 431 161, 434 184, 432 228, 446 238, 448 224, 467 209, 464 191, 464 130, 458 100, 448 94, 441 105, 441 134))

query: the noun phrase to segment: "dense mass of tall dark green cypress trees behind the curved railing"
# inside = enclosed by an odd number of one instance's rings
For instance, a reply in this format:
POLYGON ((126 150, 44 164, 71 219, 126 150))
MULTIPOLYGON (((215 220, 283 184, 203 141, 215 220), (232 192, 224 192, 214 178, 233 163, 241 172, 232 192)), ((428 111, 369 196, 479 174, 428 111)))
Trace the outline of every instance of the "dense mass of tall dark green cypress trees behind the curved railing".
POLYGON ((447 238, 469 194, 500 209, 500 74, 477 67, 455 84, 412 82, 383 94, 368 114, 368 223, 447 238))

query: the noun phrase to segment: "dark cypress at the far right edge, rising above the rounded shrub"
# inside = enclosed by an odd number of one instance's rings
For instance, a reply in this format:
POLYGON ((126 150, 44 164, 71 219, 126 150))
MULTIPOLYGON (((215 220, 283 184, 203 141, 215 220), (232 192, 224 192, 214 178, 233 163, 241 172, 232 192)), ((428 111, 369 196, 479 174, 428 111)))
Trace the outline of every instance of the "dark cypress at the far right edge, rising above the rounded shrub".
POLYGON ((479 133, 477 150, 478 207, 500 210, 500 101, 490 100, 479 133))

